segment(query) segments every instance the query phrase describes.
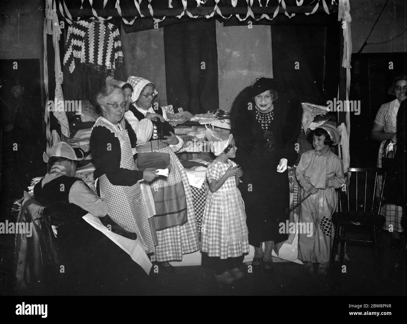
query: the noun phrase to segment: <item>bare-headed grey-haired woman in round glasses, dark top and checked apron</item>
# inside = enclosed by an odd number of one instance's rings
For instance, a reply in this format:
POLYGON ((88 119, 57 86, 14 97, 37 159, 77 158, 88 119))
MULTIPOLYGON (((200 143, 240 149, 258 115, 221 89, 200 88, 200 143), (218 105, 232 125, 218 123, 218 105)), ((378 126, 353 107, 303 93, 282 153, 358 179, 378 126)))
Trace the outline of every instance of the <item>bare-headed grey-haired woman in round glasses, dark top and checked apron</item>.
POLYGON ((90 136, 96 187, 107 201, 109 217, 125 230, 136 233, 147 253, 154 252, 157 244, 154 221, 147 217, 138 182, 151 182, 158 175, 154 171, 136 170, 131 148, 136 146, 137 138, 123 118, 127 104, 123 90, 105 85, 96 101, 100 117, 90 136))

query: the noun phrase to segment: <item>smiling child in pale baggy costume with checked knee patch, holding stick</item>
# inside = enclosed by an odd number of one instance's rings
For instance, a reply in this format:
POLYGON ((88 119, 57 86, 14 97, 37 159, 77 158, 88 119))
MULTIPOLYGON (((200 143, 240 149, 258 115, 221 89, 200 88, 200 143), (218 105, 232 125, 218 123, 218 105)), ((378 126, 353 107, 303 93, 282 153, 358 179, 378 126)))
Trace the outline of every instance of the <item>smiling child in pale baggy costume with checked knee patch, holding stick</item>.
POLYGON ((342 160, 329 149, 330 145, 339 142, 338 130, 323 124, 311 136, 314 150, 301 155, 295 170, 300 184, 298 199, 312 194, 299 207, 299 222, 311 223, 313 230, 312 233, 299 234, 298 258, 305 262, 304 269, 309 274, 313 273, 313 263, 318 263, 318 274, 325 275, 334 234, 332 214, 338 204, 335 189, 342 187, 345 176, 342 160))

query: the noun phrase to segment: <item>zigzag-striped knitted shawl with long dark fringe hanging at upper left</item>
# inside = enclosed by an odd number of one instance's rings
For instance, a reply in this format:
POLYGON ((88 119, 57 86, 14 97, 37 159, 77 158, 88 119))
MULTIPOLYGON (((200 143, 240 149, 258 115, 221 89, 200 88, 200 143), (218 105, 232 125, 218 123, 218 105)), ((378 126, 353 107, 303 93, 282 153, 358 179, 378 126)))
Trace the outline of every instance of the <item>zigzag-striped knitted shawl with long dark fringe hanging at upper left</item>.
POLYGON ((95 103, 106 77, 124 79, 120 32, 107 22, 81 20, 70 25, 63 58, 64 97, 95 103))

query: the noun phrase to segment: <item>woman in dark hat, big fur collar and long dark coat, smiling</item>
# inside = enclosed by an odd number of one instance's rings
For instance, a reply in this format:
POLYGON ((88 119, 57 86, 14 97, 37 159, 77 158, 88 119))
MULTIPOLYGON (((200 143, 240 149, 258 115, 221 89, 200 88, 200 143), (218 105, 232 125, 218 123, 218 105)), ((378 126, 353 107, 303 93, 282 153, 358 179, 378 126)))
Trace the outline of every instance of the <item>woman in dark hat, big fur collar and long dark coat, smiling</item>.
POLYGON ((279 224, 288 220, 284 214, 284 207, 289 206, 285 171, 297 158, 301 103, 273 79, 260 78, 236 97, 231 116, 231 133, 239 148, 235 160, 245 172, 239 189, 245 202, 249 243, 255 247, 252 265, 263 264, 272 270, 274 243, 288 238, 288 233, 279 232, 279 224))

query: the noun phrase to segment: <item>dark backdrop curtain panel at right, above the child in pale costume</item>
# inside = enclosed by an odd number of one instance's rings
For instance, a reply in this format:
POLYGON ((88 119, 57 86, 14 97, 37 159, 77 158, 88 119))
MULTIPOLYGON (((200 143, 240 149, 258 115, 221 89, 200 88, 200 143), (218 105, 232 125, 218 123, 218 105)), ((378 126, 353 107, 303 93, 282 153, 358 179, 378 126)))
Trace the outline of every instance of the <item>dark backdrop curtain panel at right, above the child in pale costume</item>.
POLYGON ((331 34, 331 28, 335 25, 271 26, 274 79, 296 92, 301 102, 326 105, 328 99, 336 97, 339 39, 326 37, 328 31, 331 34), (329 53, 329 59, 324 71, 326 53, 329 53), (295 62, 299 69, 295 69, 295 62), (323 84, 328 86, 329 93, 324 93, 323 84))

